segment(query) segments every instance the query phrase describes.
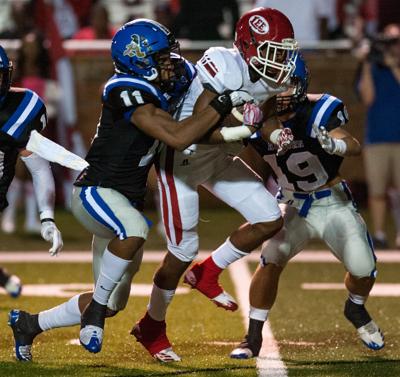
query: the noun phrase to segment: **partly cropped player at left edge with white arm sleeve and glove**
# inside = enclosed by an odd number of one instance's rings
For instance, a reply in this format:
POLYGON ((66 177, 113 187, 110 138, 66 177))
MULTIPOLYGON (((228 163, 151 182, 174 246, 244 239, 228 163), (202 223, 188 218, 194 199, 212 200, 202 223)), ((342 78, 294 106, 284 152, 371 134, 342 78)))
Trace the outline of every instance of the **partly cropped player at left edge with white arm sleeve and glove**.
MULTIPOLYGON (((41 235, 52 243, 49 252, 57 255, 63 246, 60 231, 54 222, 54 179, 48 161, 31 153, 26 144, 33 130, 46 127, 46 108, 33 91, 10 87, 13 66, 0 46, 0 211, 8 206, 7 191, 20 156, 32 175, 39 207, 41 235)), ((21 281, 0 267, 0 286, 12 296, 21 293, 21 281)))

